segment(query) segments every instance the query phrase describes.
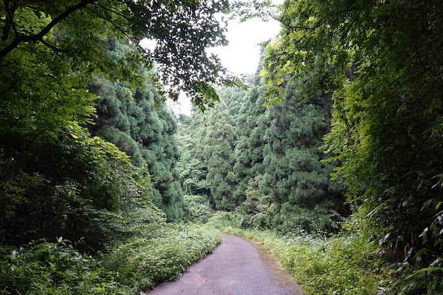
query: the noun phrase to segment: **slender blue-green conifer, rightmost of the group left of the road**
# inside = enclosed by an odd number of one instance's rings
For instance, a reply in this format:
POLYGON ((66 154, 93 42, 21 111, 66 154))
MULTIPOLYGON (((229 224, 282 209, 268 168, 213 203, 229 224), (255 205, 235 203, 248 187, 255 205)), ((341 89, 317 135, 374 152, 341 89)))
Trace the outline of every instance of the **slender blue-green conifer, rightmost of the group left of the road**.
POLYGON ((175 118, 164 105, 155 109, 152 92, 137 89, 134 102, 129 115, 137 125, 131 125, 131 136, 141 143, 141 156, 153 175, 153 201, 171 219, 182 218, 186 206, 175 167, 180 157, 175 118))

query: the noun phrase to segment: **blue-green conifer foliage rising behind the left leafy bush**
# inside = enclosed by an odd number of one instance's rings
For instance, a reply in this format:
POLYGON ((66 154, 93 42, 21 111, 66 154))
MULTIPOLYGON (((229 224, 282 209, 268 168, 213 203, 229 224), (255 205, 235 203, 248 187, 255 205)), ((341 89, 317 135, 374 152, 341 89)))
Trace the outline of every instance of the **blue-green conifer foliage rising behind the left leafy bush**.
MULTIPOLYGON (((110 38, 110 55, 119 58, 130 51, 128 44, 110 38)), ((144 73, 144 69, 141 69, 144 73)), ((177 123, 166 106, 154 107, 156 91, 144 83, 144 89, 131 91, 126 84, 98 79, 89 84, 96 100, 97 117, 89 130, 126 152, 135 166, 146 161, 153 176, 153 202, 171 220, 183 217, 186 208, 175 169, 180 157, 175 133, 177 123)))

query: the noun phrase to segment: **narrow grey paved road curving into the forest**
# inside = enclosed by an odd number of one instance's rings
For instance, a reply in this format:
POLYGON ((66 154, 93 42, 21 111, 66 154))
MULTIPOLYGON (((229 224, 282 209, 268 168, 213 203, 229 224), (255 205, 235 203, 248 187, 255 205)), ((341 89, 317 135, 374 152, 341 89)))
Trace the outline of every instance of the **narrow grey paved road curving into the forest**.
POLYGON ((267 251, 242 238, 222 235, 213 253, 175 282, 166 282, 148 295, 277 295, 304 294, 288 271, 267 251))

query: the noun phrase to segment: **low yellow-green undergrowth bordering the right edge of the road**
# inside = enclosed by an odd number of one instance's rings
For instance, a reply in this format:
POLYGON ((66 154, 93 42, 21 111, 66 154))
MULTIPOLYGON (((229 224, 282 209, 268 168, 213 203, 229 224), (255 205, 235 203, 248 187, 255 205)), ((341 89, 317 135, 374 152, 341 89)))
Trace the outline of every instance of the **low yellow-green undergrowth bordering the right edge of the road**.
POLYGON ((354 235, 279 237, 271 231, 226 227, 222 233, 254 240, 279 258, 306 294, 376 294, 381 280, 368 245, 354 235), (365 247, 367 249, 365 249, 365 247))

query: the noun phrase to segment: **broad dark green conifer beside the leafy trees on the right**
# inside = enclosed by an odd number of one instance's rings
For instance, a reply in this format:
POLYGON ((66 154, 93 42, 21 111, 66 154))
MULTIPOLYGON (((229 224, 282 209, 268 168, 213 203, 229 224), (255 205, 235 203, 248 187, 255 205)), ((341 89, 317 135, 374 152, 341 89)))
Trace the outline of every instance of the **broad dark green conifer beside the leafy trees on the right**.
POLYGON ((342 183, 330 180, 334 166, 322 162, 326 156, 320 150, 331 128, 331 95, 320 93, 300 105, 299 91, 290 84, 286 100, 267 111, 261 193, 281 206, 273 226, 333 231, 338 229, 337 211, 347 211, 342 183))

